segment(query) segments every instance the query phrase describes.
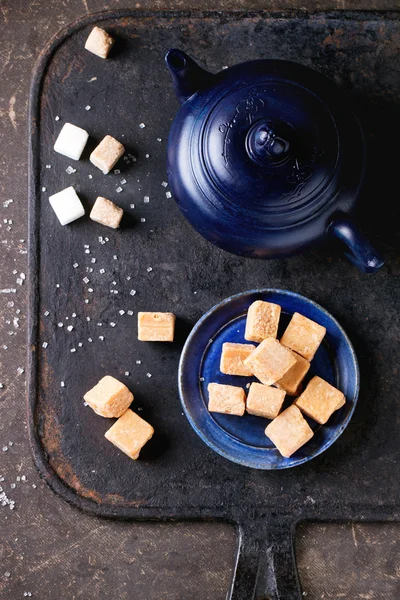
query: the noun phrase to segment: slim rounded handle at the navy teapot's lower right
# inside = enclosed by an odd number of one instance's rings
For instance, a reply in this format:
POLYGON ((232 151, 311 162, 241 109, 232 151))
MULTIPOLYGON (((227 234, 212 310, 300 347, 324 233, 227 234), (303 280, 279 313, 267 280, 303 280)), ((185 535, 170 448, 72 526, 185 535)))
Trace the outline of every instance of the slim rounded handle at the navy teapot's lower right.
POLYGON ((346 215, 334 217, 328 231, 344 242, 349 249, 347 258, 363 273, 375 273, 384 264, 383 256, 346 215))

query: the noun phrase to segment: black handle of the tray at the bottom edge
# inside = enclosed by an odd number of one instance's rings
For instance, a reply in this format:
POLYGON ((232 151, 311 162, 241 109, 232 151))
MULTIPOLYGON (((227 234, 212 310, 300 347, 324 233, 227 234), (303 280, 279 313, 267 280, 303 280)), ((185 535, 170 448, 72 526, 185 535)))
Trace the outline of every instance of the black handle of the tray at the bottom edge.
POLYGON ((280 516, 238 525, 238 554, 227 600, 301 600, 293 522, 280 516))

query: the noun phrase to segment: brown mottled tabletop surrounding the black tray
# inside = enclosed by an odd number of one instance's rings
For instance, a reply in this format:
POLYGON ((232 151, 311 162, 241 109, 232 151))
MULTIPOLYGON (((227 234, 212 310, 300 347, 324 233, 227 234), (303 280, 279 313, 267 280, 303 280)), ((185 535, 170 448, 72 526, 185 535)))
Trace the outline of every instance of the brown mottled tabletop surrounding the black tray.
MULTIPOLYGON (((261 5, 265 7, 257 2, 223 3, 226 8, 261 5)), ((293 2, 271 4, 275 8, 293 5, 293 2)), ((342 2, 312 5, 343 7, 342 2)), ((142 3, 143 8, 154 6, 160 4, 142 3)), ((173 6, 193 5, 176 2, 173 6)), ((201 6, 213 8, 205 2, 201 6)), ((375 7, 373 2, 347 6, 375 7)), ((40 1, 31 3, 29 9, 25 2, 0 5, 0 140, 3 142, 0 289, 17 289, 15 294, 0 295, 1 346, 8 346, 0 348, 0 381, 4 384, 0 400, 0 450, 9 441, 13 442, 7 452, 0 452, 0 475, 4 477, 0 485, 16 501, 13 512, 8 506, 0 506, 0 597, 5 600, 23 597, 28 590, 43 600, 55 597, 218 599, 228 589, 233 565, 236 542, 229 527, 108 523, 87 517, 69 508, 40 483, 30 458, 24 422, 24 374, 17 372, 18 367, 25 368, 25 284, 20 286, 16 278, 27 271, 26 114, 31 69, 40 49, 61 26, 87 11, 109 7, 126 7, 126 3, 114 2, 110 6, 90 0, 40 1), (3 207, 9 198, 14 202, 3 207), (4 223, 5 218, 12 223, 4 223), (10 302, 14 306, 9 306, 10 302), (14 318, 19 321, 13 322, 14 318), (10 331, 15 335, 9 336, 10 331), (22 475, 26 475, 27 481, 17 482, 15 489, 11 489, 10 484, 22 475), (107 548, 106 553, 103 548, 107 548), (5 576, 6 572, 10 572, 10 577, 5 576)), ((396 7, 399 8, 398 3, 380 3, 380 8, 396 7)), ((396 273, 394 263, 389 268, 396 273)), ((375 292, 379 301, 379 289, 375 292)), ((395 298, 389 298, 389 304, 394 301, 395 298)), ((385 382, 381 384, 384 388, 385 382)), ((391 390, 386 389, 385 393, 391 390)), ((297 551, 307 597, 398 598, 398 534, 398 526, 389 524, 302 526, 297 551)))

